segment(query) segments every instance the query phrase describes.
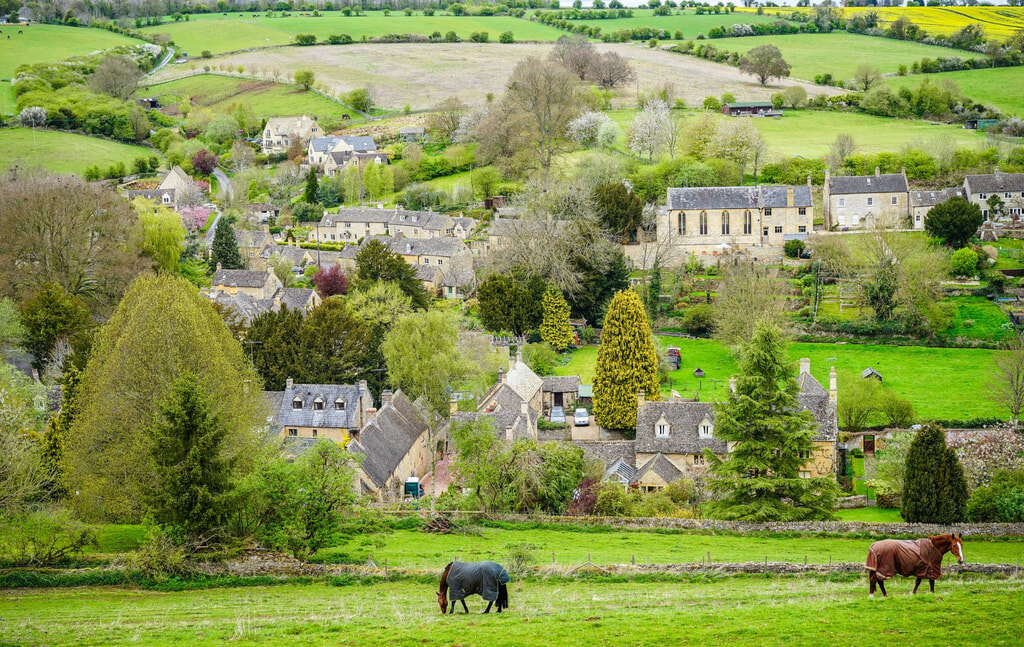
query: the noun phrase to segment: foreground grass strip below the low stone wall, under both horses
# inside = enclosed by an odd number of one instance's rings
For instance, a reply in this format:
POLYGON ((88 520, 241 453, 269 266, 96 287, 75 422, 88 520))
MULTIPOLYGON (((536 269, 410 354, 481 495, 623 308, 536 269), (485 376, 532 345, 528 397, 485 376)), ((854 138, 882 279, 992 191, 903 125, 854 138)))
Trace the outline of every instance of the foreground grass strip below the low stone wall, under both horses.
MULTIPOLYGON (((425 537, 429 538, 429 537, 425 537)), ((433 567, 440 564, 434 563, 433 567)), ((937 595, 867 598, 861 577, 693 577, 677 581, 513 579, 510 607, 440 615, 432 581, 324 583, 154 592, 0 593, 7 644, 97 645, 1012 645, 1019 579, 944 578, 937 595)))

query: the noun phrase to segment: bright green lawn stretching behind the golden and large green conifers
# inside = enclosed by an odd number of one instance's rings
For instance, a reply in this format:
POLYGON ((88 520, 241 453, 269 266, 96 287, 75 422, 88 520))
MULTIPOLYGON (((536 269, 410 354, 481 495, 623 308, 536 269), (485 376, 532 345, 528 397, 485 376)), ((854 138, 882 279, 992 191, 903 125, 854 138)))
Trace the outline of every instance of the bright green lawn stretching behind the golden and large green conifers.
MULTIPOLYGON (((698 391, 702 400, 725 397, 728 379, 737 369, 722 344, 709 339, 659 339, 665 346, 680 348, 682 354, 680 370, 671 375, 671 388, 683 397, 693 397, 698 391), (693 377, 696 369, 703 371, 703 378, 693 377)), ((860 372, 872 366, 882 374, 886 386, 913 403, 920 420, 1007 418, 1007 412, 988 399, 993 352, 975 348, 795 343, 790 346, 790 359, 810 357, 811 373, 826 388, 828 366, 835 362, 840 398, 844 382, 860 379, 860 372)), ((584 347, 574 351, 569 362, 555 373, 580 375, 584 384, 592 383, 596 360, 596 347, 584 347)))

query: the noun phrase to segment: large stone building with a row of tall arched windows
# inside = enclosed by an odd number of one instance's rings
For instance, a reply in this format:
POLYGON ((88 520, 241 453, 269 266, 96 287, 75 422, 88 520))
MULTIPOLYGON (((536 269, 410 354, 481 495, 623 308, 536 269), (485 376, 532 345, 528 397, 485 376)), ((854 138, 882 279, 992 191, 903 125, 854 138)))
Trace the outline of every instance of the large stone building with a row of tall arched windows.
POLYGON ((778 256, 786 241, 813 230, 809 179, 797 186, 670 188, 668 208, 657 217, 658 244, 680 255, 778 256))

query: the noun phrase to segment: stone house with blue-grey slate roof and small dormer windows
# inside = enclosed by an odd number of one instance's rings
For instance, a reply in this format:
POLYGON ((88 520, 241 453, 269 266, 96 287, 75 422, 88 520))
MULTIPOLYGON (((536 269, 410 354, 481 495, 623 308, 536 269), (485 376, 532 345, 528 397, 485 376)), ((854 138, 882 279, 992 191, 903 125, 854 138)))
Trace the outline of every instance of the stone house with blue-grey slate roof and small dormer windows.
POLYGON ((322 438, 341 446, 348 444, 373 411, 374 399, 366 380, 355 386, 343 384, 295 384, 288 378, 284 392, 270 392, 280 401, 274 429, 282 437, 312 444, 322 438))

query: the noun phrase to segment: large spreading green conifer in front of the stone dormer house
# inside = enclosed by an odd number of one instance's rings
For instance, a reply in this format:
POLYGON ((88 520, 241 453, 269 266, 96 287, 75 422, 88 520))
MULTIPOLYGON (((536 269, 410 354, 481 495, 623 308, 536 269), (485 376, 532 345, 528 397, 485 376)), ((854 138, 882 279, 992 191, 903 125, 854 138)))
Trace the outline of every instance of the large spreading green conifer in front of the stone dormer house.
POLYGON ((718 519, 805 521, 831 519, 839 487, 831 478, 800 478, 814 449, 817 424, 800 411, 796 371, 785 359, 778 328, 761 322, 742 347, 736 390, 715 406, 715 437, 732 447, 721 460, 706 449, 718 519))

